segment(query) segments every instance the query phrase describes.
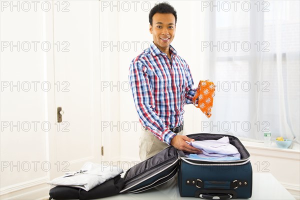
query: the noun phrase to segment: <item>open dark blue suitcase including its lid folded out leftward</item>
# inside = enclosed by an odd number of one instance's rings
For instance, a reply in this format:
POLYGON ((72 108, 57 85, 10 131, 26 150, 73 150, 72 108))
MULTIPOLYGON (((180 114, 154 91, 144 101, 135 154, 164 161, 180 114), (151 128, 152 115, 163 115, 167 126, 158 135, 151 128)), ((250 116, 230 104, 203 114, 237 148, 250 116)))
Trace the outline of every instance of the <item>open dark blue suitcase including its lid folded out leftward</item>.
POLYGON ((252 194, 250 155, 238 138, 226 134, 197 133, 187 135, 195 140, 228 136, 240 155, 234 161, 202 161, 188 158, 169 146, 128 169, 122 192, 137 193, 162 184, 178 173, 180 196, 205 199, 249 198, 252 194))

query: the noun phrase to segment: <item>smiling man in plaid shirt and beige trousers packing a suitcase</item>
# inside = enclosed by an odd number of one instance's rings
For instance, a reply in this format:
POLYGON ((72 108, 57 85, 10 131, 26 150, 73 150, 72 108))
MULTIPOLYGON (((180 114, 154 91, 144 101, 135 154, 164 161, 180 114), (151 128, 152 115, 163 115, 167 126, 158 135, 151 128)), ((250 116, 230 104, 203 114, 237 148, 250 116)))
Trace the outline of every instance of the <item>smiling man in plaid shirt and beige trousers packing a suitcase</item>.
POLYGON ((146 128, 139 142, 141 160, 168 145, 189 153, 201 152, 185 142, 193 139, 182 135, 183 106, 192 103, 195 89, 188 64, 170 45, 176 21, 177 14, 171 5, 156 4, 149 13, 153 42, 130 63, 134 103, 139 121, 146 128))

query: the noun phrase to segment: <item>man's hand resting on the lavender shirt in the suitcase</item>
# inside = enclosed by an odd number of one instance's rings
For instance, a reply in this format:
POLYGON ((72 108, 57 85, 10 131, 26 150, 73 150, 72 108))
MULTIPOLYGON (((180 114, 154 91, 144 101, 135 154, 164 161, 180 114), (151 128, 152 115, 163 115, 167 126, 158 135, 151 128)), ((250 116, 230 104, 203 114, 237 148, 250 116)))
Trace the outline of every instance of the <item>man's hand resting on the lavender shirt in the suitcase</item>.
POLYGON ((185 135, 176 135, 171 140, 171 145, 175 148, 189 152, 189 153, 202 153, 202 151, 198 148, 195 148, 193 146, 188 145, 185 141, 194 141, 194 139, 191 139, 185 135))

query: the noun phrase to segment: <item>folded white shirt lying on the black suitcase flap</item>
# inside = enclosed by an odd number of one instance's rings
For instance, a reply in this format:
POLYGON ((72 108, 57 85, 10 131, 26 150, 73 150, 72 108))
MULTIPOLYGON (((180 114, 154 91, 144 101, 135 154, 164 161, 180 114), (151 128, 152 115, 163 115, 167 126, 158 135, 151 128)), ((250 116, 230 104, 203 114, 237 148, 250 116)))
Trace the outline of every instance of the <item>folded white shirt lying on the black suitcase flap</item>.
POLYGON ((67 172, 65 175, 54 178, 47 183, 79 187, 88 191, 122 172, 123 170, 119 167, 103 166, 101 164, 86 162, 79 171, 67 172))

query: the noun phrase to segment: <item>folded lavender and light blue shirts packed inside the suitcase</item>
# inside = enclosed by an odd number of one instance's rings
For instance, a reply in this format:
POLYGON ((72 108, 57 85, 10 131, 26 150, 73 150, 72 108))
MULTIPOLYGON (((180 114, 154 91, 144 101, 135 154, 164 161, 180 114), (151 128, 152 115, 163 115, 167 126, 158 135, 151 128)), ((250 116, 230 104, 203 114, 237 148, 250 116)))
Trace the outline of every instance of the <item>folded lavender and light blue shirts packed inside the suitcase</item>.
POLYGON ((223 136, 217 140, 196 140, 187 142, 189 145, 201 149, 202 153, 207 156, 234 156, 240 158, 240 154, 235 146, 229 143, 229 138, 223 136))

